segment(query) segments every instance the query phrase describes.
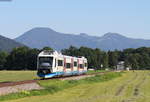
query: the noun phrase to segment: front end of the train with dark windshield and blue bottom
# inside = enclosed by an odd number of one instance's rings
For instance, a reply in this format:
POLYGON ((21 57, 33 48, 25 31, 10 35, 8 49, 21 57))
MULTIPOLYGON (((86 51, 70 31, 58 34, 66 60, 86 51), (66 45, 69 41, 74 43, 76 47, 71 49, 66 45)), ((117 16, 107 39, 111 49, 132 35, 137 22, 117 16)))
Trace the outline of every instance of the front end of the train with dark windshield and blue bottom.
POLYGON ((53 73, 54 56, 51 51, 42 51, 37 58, 37 75, 41 78, 56 76, 53 73))

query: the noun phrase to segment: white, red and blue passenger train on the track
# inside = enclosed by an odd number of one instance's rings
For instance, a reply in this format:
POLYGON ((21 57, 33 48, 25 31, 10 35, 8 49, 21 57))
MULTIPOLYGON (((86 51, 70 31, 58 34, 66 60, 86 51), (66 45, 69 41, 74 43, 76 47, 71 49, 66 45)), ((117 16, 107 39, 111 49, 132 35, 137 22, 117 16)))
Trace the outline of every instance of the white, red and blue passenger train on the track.
POLYGON ((37 75, 41 78, 81 75, 87 72, 87 67, 87 59, 83 56, 67 56, 44 50, 37 57, 37 75))

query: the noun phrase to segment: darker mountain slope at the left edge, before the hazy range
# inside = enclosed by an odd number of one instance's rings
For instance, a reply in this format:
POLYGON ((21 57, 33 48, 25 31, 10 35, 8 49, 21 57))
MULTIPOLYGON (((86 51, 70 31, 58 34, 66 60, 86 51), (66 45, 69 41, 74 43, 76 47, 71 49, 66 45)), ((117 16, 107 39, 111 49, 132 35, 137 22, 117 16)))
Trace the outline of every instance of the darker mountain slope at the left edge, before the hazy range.
POLYGON ((25 46, 16 42, 15 40, 6 38, 0 35, 0 51, 11 51, 15 47, 25 46))

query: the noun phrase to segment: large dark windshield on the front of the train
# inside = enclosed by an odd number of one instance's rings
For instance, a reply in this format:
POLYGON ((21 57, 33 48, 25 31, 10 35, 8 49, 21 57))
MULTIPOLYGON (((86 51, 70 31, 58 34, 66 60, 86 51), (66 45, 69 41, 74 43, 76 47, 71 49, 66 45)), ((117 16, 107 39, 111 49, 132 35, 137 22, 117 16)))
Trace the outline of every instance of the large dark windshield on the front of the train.
POLYGON ((39 57, 39 68, 51 68, 53 64, 53 57, 39 57))

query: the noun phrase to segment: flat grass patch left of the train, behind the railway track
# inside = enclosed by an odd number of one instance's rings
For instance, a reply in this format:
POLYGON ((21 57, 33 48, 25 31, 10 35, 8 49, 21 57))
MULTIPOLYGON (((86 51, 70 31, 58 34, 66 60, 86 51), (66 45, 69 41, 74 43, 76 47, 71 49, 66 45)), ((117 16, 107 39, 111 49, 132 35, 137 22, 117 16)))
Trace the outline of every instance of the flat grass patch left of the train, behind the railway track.
POLYGON ((33 80, 37 78, 36 71, 0 71, 0 82, 33 80))

